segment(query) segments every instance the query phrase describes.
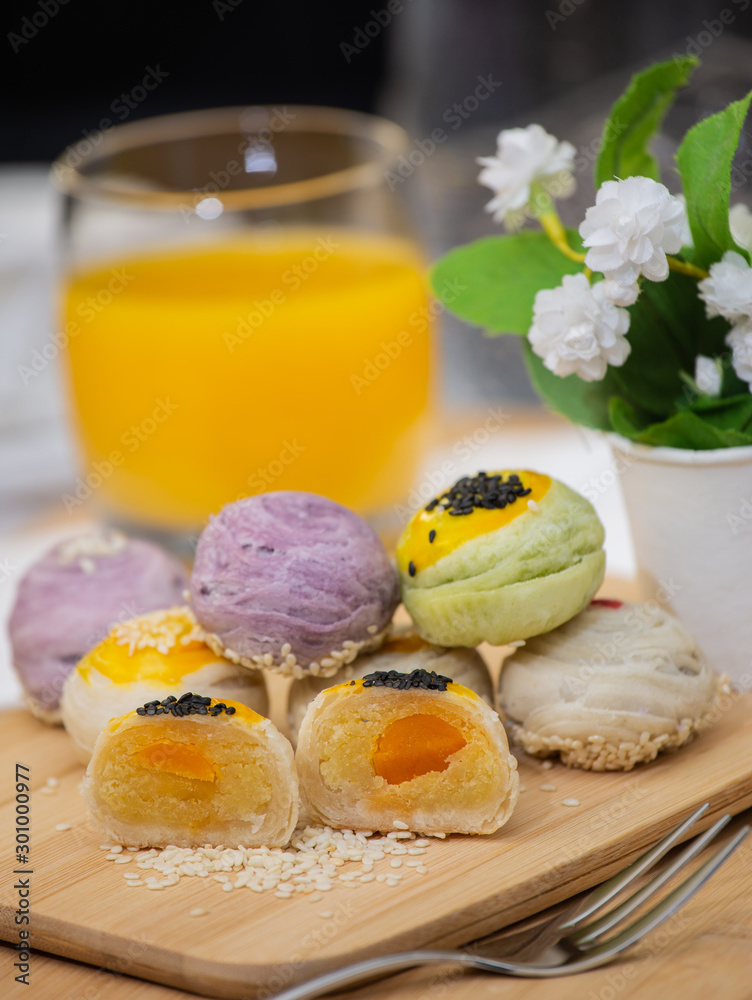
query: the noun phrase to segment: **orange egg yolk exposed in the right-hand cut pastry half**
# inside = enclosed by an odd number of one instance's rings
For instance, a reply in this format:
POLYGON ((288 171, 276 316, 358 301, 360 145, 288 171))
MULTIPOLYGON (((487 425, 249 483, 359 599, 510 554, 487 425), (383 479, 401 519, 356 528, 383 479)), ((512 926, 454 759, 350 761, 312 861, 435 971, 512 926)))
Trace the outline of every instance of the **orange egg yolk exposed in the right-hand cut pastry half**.
POLYGON ((436 715, 408 715, 390 722, 373 754, 376 774, 400 785, 429 771, 446 771, 449 757, 467 741, 436 715))

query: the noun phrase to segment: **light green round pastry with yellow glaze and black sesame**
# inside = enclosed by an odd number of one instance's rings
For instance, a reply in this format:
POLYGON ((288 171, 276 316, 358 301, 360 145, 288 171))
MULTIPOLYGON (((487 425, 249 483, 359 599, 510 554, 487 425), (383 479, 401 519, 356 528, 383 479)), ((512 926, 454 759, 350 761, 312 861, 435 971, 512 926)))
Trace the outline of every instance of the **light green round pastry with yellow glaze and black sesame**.
POLYGON ((397 546, 402 599, 444 646, 548 632, 603 581, 603 525, 564 483, 519 470, 464 477, 418 511, 397 546))

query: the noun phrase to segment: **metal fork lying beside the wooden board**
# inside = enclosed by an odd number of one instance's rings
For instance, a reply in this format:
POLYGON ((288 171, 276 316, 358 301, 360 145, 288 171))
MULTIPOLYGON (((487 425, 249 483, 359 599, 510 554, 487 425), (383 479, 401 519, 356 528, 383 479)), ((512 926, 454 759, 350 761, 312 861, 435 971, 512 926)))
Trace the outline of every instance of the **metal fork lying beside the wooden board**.
POLYGON ((602 940, 616 924, 642 906, 676 872, 698 855, 729 822, 731 816, 722 816, 704 833, 696 837, 670 864, 663 868, 641 889, 629 896, 605 916, 590 920, 606 907, 623 889, 640 875, 649 871, 676 844, 687 830, 708 810, 706 802, 696 809, 662 840, 642 854, 631 865, 599 885, 582 902, 577 915, 564 920, 553 928, 556 943, 535 962, 517 963, 501 961, 463 951, 406 951, 395 955, 381 955, 363 962, 335 969, 315 979, 293 986, 276 994, 275 1000, 313 1000, 334 990, 346 989, 369 980, 421 965, 452 963, 467 969, 496 972, 500 975, 524 976, 529 979, 550 979, 554 976, 571 976, 576 972, 595 969, 626 951, 652 930, 671 917, 697 890, 720 868, 749 833, 749 826, 742 827, 723 847, 685 879, 651 910, 639 917, 617 934, 602 940), (589 922, 586 922, 589 921, 589 922))

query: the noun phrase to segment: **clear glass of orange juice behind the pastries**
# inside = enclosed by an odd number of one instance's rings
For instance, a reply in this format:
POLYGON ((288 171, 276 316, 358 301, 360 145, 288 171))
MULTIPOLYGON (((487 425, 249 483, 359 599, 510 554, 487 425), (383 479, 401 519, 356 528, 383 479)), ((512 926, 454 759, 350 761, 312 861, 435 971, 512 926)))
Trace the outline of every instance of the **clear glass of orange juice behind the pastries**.
POLYGON ((266 490, 389 510, 431 368, 425 264, 394 181, 402 130, 287 106, 96 139, 53 166, 84 492, 173 537, 266 490))

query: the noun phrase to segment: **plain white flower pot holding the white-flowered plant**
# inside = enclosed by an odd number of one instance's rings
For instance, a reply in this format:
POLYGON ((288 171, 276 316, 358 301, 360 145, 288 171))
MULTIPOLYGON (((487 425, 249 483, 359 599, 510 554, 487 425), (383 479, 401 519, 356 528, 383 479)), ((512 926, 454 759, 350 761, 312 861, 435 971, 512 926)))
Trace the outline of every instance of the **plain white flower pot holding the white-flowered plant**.
POLYGON ((720 673, 752 687, 752 446, 651 448, 607 434, 644 600, 672 610, 720 673))

